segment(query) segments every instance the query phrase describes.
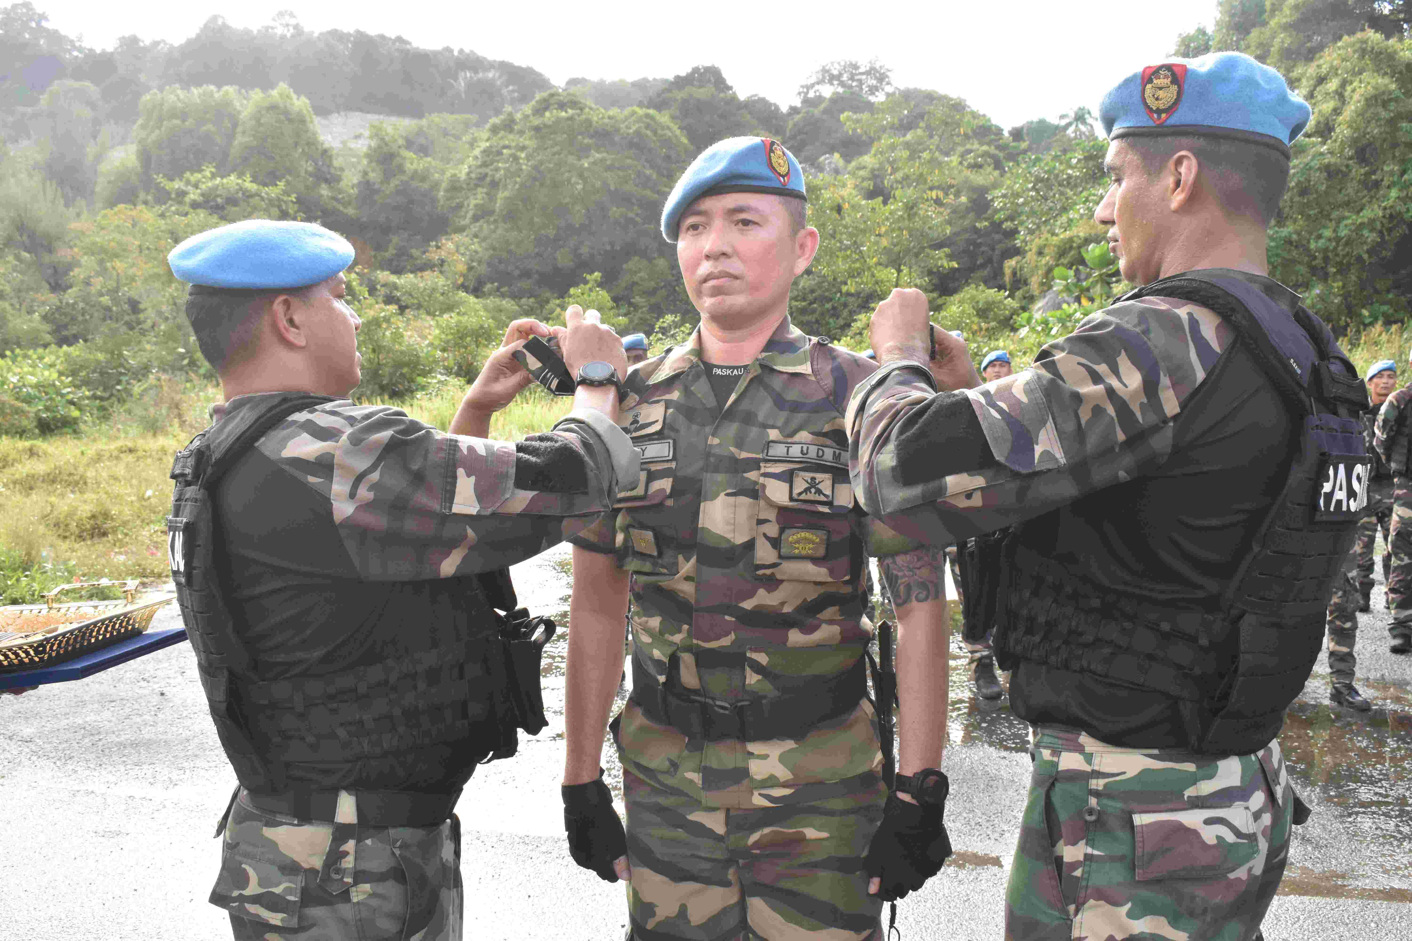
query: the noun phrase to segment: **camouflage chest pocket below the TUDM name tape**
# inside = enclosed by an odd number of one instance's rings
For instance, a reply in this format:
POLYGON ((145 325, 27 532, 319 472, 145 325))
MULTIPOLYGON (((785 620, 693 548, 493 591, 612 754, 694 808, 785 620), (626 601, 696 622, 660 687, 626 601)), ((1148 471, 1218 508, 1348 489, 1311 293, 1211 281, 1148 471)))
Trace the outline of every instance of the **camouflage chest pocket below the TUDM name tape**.
POLYGON ((853 485, 829 467, 764 461, 755 519, 755 574, 847 581, 853 574, 853 485))

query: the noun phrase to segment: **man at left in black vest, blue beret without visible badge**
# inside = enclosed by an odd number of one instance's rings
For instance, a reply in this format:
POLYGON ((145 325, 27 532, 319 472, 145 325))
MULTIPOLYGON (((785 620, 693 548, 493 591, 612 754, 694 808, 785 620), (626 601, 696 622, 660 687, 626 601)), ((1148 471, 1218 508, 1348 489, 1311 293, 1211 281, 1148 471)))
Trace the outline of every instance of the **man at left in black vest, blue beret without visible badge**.
MULTIPOLYGON (((487 574, 637 480, 617 391, 582 384, 552 432, 486 440, 530 382, 511 351, 551 334, 517 320, 441 432, 349 399, 360 320, 342 236, 250 220, 168 260, 225 392, 176 456, 168 518, 178 604, 239 780, 210 901, 237 940, 460 938, 453 808, 477 762, 514 753, 528 728, 503 693, 493 611, 511 611, 514 590, 487 574)), ((570 365, 626 371, 594 312, 566 320, 570 365)))

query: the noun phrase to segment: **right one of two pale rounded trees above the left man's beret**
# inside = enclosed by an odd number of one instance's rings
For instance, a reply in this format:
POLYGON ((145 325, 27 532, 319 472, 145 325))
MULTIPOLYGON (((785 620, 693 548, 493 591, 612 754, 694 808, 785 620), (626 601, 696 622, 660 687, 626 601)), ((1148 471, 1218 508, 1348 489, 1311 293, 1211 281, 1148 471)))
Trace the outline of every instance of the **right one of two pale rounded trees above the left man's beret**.
POLYGON ((333 151, 319 137, 313 109, 288 85, 250 96, 230 145, 229 168, 260 186, 282 183, 311 217, 323 214, 328 190, 337 183, 333 151))

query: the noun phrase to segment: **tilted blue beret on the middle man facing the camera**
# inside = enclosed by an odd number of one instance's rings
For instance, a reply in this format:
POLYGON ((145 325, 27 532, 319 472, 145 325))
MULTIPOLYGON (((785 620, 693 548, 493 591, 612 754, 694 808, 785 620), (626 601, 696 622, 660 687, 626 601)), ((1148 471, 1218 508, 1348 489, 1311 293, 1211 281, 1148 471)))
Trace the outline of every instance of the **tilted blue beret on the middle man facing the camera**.
POLYGON ((805 199, 803 171, 794 154, 768 137, 730 137, 692 161, 662 206, 662 238, 676 241, 686 207, 716 193, 774 193, 805 199))

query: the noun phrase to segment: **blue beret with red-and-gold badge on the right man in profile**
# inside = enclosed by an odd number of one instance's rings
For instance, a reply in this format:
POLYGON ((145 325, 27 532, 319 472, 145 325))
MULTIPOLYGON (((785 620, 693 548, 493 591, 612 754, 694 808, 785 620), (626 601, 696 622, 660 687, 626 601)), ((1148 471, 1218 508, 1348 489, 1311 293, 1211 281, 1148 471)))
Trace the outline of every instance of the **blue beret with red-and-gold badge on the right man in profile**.
POLYGON ((1264 144, 1285 157, 1309 116, 1285 76, 1244 52, 1149 65, 1113 86, 1099 109, 1110 140, 1200 134, 1264 144))

